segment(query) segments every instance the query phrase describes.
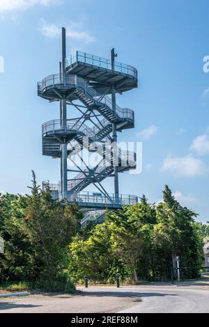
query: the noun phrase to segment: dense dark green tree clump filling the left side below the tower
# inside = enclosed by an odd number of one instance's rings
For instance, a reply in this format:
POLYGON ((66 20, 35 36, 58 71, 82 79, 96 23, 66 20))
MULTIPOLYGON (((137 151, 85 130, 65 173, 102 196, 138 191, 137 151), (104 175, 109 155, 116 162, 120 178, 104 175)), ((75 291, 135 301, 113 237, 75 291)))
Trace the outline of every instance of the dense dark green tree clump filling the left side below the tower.
POLYGON ((53 200, 49 187, 41 191, 34 173, 32 183, 31 196, 0 198, 0 233, 5 240, 1 280, 40 282, 52 285, 51 289, 62 284, 70 289, 62 274, 68 266, 67 248, 79 232, 82 214, 77 204, 53 200))

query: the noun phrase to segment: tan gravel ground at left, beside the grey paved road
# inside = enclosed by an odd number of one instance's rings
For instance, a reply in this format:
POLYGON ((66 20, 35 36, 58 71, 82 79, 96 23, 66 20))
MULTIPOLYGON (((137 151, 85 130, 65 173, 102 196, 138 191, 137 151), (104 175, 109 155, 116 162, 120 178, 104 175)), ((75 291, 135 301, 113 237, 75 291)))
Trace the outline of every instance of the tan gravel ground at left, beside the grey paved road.
POLYGON ((134 294, 115 294, 114 292, 81 292, 76 295, 34 294, 22 298, 0 299, 0 313, 95 313, 118 312, 141 301, 134 294))

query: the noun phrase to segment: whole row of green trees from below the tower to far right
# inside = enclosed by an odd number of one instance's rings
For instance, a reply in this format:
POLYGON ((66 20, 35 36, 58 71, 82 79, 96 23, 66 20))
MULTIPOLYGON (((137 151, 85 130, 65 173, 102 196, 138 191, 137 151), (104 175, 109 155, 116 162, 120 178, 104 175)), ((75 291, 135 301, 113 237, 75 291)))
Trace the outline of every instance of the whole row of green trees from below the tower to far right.
MULTIPOLYGON (((168 280, 176 255, 181 266, 201 266, 203 237, 196 214, 182 207, 168 186, 164 202, 155 206, 145 196, 141 203, 107 212, 104 223, 75 237, 70 244, 68 271, 74 280, 168 280)), ((185 273, 194 278, 198 271, 185 273)))

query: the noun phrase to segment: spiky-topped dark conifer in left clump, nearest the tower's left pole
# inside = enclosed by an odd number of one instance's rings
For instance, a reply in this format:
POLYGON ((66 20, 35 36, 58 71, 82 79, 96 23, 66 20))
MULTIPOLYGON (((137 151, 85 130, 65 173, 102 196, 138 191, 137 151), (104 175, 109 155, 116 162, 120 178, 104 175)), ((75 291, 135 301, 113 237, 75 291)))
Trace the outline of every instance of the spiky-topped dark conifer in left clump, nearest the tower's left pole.
POLYGON ((53 200, 49 186, 41 191, 35 173, 32 183, 25 229, 34 246, 34 271, 39 278, 53 279, 65 268, 66 248, 78 230, 81 214, 77 205, 53 200))

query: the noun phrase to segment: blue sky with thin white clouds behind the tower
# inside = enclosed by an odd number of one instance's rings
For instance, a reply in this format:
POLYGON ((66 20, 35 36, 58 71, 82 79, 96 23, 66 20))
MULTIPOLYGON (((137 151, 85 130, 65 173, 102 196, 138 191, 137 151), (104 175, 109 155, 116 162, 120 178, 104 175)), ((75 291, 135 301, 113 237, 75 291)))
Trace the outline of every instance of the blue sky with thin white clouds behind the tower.
MULTIPOLYGON (((209 220, 207 8, 207 0, 1 0, 0 190, 25 193, 31 169, 39 182, 59 180, 59 160, 41 150, 42 122, 59 110, 37 97, 36 83, 58 72, 65 26, 68 54, 109 57, 115 47, 118 61, 139 70, 139 88, 117 102, 135 111, 135 129, 119 138, 143 141, 143 171, 121 174, 121 193, 158 202, 169 184, 199 220, 209 220)), ((109 192, 112 182, 104 182, 109 192)))

